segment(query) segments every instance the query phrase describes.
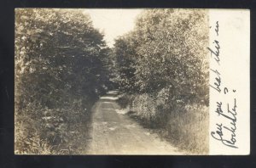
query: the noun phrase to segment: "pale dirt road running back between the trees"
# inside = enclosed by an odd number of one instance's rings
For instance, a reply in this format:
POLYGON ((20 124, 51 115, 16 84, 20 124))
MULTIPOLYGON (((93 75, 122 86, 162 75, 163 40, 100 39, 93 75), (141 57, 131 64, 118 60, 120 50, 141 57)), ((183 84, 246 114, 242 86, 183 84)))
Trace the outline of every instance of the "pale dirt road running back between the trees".
POLYGON ((181 154, 157 134, 131 120, 115 99, 117 92, 108 92, 95 104, 87 154, 181 154))

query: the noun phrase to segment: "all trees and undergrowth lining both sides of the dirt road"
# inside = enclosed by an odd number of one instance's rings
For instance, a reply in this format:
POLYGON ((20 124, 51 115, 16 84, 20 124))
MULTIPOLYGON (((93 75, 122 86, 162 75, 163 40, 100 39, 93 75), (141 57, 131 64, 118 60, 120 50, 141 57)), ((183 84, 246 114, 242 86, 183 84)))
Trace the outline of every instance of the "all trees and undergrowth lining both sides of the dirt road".
POLYGON ((207 130, 196 122, 207 122, 207 20, 200 9, 145 9, 108 48, 81 9, 16 9, 15 153, 78 154, 90 108, 116 87, 146 124, 206 151, 205 134, 188 132, 207 130))

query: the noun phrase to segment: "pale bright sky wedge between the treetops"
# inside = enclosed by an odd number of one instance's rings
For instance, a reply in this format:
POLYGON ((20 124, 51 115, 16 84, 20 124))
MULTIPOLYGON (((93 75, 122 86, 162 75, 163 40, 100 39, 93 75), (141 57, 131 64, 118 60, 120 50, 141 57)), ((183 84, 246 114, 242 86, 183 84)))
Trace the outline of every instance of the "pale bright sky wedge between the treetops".
POLYGON ((109 47, 113 47, 117 36, 133 29, 137 14, 141 12, 142 9, 84 9, 96 29, 104 32, 109 47))

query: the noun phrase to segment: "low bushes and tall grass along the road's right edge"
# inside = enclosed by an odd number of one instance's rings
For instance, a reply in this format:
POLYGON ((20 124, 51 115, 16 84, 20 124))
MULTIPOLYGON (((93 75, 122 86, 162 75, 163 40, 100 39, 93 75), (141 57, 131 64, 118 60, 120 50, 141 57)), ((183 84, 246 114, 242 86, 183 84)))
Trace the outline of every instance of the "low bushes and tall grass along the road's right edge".
POLYGON ((132 119, 189 154, 208 153, 208 107, 177 105, 170 109, 160 97, 124 94, 117 102, 132 119))

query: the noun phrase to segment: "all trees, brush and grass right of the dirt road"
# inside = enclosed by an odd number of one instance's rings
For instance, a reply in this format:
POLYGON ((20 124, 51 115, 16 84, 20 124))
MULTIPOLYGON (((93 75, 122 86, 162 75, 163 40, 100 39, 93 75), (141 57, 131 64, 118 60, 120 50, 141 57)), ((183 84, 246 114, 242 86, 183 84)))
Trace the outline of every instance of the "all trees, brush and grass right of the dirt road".
POLYGON ((167 129, 177 142, 188 142, 191 148, 198 145, 200 152, 206 152, 207 143, 200 147, 196 141, 207 142, 207 132, 198 139, 184 131, 197 125, 207 127, 207 26, 206 10, 146 9, 134 30, 114 45, 116 81, 123 92, 130 92, 130 109, 149 126, 167 129))

